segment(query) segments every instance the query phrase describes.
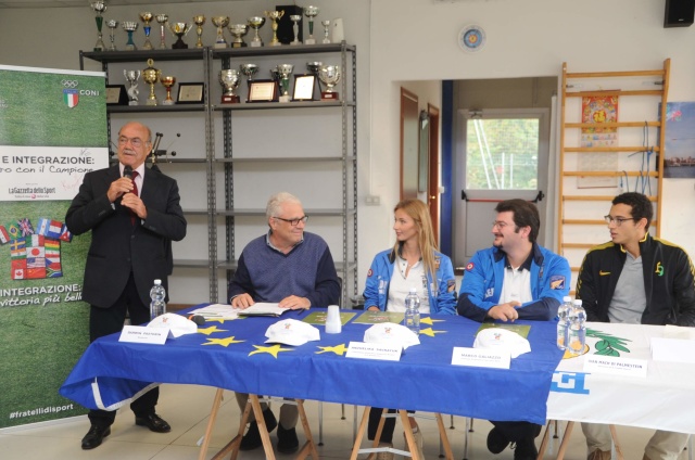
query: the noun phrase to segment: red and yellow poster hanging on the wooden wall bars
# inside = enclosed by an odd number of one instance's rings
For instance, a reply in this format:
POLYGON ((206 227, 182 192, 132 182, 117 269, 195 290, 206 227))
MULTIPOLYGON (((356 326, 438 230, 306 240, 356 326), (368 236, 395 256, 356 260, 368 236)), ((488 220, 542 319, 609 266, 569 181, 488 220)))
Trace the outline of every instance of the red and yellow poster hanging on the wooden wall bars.
MULTIPOLYGON (((594 124, 595 127, 582 128, 580 145, 586 148, 617 146, 618 128, 602 127, 606 123, 618 122, 617 95, 586 95, 582 98, 582 123, 594 124)), ((579 156, 579 170, 584 171, 616 171, 618 170, 618 154, 616 152, 585 152, 579 156)), ((580 176, 577 187, 614 188, 615 177, 580 176)))

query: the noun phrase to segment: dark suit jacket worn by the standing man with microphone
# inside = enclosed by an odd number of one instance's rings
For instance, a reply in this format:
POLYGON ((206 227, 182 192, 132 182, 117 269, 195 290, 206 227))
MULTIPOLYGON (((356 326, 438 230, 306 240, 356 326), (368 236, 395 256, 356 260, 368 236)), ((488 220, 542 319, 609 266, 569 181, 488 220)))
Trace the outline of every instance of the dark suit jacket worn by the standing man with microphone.
POLYGON ((168 288, 172 240, 186 237, 186 219, 174 179, 146 168, 140 199, 148 208, 148 218, 137 218, 134 226, 130 212, 121 206, 121 200, 112 206, 106 196, 109 186, 119 176, 118 165, 85 175, 65 216, 74 234, 91 230, 83 298, 102 308, 118 299, 131 271, 142 303, 149 305, 155 279, 168 288))

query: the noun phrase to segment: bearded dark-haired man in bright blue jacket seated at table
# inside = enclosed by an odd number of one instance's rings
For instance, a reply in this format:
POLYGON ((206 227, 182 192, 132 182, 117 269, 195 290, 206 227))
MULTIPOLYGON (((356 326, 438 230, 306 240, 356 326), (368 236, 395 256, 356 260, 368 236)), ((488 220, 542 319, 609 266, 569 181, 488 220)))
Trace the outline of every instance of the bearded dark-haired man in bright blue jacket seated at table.
MULTIPOLYGON (((565 257, 541 247, 535 239, 541 219, 535 206, 523 200, 507 200, 495 207, 493 247, 478 251, 466 265, 456 309, 476 321, 551 321, 569 293, 570 268, 565 257)), ((538 457, 535 436, 541 425, 530 422, 497 422, 488 435, 488 449, 503 451, 516 444, 514 460, 538 457)))

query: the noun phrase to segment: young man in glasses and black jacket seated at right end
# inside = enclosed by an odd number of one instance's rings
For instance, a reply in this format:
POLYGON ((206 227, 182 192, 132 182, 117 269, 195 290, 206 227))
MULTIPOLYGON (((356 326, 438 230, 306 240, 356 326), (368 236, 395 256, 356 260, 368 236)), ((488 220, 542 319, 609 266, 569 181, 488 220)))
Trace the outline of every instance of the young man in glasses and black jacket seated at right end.
MULTIPOLYGON (((611 242, 589 251, 579 271, 577 298, 589 321, 695 325, 693 264, 681 247, 649 235, 649 200, 628 192, 605 216, 611 242)), ((590 460, 610 459, 608 425, 582 423, 590 460)), ((657 431, 643 460, 675 459, 688 435, 657 431)))

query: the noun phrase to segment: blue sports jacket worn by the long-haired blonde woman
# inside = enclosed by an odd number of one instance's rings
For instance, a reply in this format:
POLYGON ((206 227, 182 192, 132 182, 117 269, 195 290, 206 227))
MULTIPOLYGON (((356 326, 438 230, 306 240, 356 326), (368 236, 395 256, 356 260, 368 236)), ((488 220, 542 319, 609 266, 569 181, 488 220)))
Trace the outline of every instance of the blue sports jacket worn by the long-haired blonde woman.
MULTIPOLYGON (((437 269, 437 291, 432 291, 433 282, 428 274, 427 291, 429 293, 430 312, 456 315, 456 278, 452 260, 440 252, 434 252, 439 268, 437 269)), ((382 251, 371 261, 365 285, 365 309, 377 306, 386 311, 389 299, 389 283, 393 274, 395 253, 393 250, 382 251)))

